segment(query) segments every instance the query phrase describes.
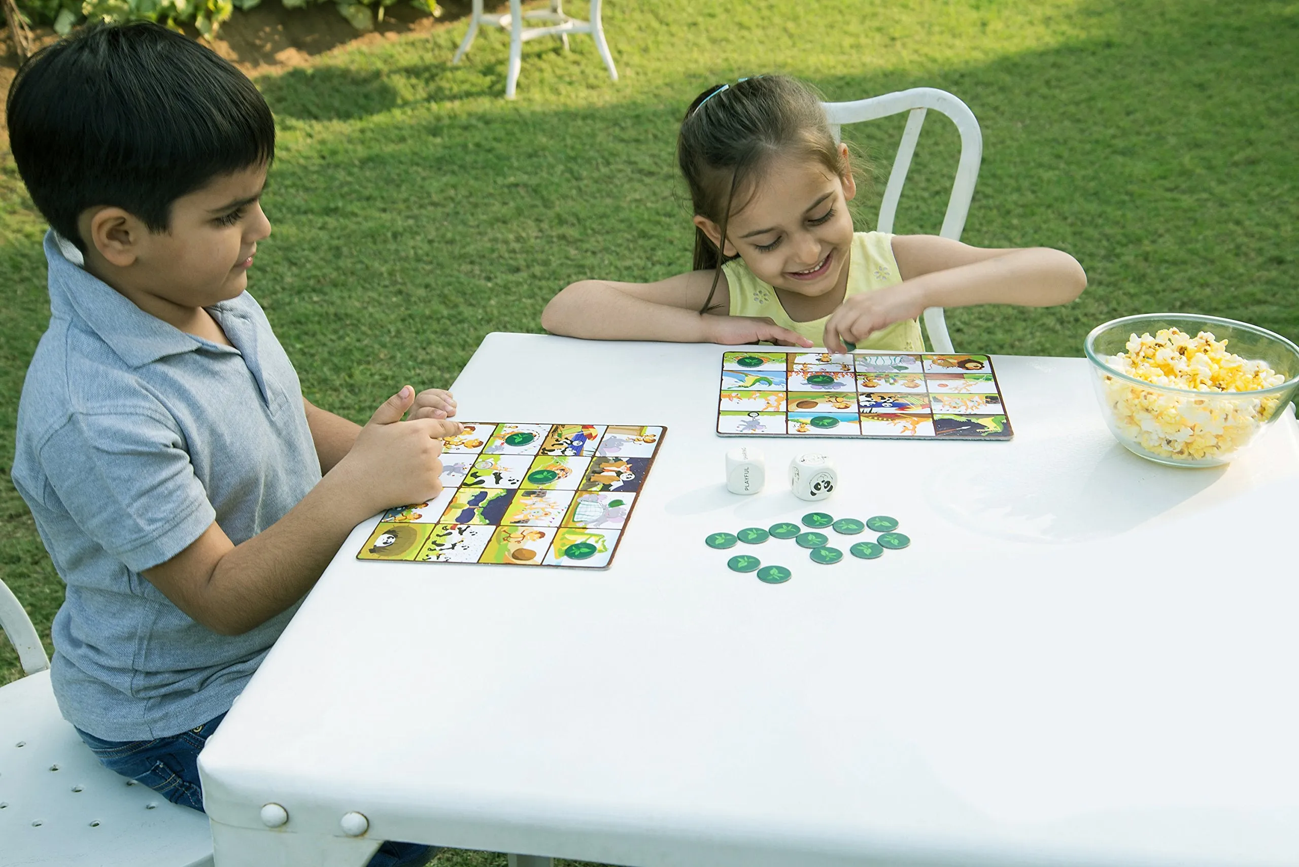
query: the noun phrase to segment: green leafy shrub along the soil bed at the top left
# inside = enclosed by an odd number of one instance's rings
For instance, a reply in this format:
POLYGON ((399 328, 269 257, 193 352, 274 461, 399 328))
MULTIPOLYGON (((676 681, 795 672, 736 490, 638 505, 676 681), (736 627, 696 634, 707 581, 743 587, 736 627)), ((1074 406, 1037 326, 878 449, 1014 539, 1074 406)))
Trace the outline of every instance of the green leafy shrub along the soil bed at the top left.
MULTIPOLYGON (((357 30, 374 27, 375 14, 397 0, 283 0, 288 9, 308 4, 334 3, 339 14, 357 30)), ((194 25, 204 36, 212 36, 235 9, 252 9, 261 0, 18 0, 18 10, 27 23, 51 25, 60 34, 87 21, 156 21, 171 29, 194 25)), ((433 0, 410 0, 410 5, 433 14, 442 10, 433 0)))

